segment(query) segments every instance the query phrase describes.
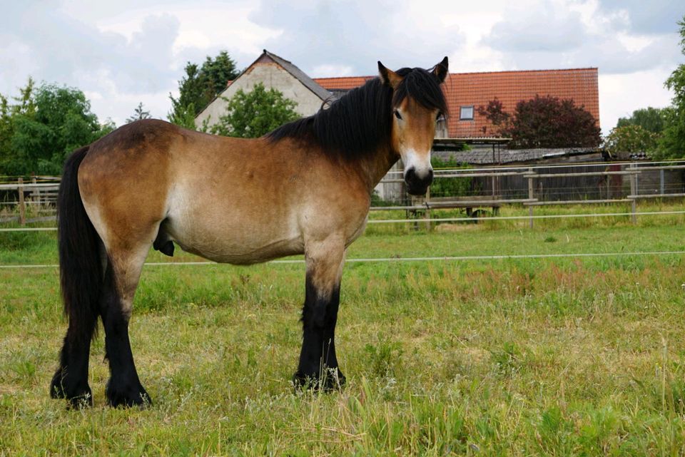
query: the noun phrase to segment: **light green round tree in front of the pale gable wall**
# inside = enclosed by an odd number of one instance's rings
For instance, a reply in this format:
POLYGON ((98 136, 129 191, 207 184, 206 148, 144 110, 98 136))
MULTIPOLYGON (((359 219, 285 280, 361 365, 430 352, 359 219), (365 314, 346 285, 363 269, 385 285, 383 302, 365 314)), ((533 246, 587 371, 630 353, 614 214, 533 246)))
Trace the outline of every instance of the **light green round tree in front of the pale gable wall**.
POLYGON ((250 92, 242 89, 228 101, 226 113, 209 128, 215 135, 257 138, 300 117, 295 103, 275 88, 266 90, 262 83, 250 92))

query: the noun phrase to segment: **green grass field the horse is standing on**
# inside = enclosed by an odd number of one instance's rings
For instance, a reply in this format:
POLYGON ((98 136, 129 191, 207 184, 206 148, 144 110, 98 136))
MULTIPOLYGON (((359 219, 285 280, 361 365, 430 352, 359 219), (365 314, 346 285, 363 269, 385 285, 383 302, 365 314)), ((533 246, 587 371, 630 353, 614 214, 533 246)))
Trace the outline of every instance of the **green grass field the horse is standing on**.
MULTIPOLYGON (((625 222, 374 227, 348 258, 685 250, 682 216, 625 222)), ((54 262, 54 233, 0 233, 0 265, 54 262)), ((290 384, 303 265, 146 267, 131 340, 155 404, 104 405, 100 335, 95 406, 67 411, 56 269, 0 269, 0 456, 682 456, 684 283, 684 255, 350 263, 348 384, 317 395, 290 384)))

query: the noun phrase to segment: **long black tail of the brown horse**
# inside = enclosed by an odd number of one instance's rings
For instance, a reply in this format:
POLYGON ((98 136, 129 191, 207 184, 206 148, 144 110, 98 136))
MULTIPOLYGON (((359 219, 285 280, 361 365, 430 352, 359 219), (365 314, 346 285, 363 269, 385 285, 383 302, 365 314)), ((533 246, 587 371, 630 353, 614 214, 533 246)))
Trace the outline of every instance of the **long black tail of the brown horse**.
POLYGON ((101 240, 78 190, 78 167, 88 148, 74 151, 64 163, 57 197, 59 279, 64 314, 69 319, 66 340, 72 344, 86 343, 93 337, 103 287, 101 240))

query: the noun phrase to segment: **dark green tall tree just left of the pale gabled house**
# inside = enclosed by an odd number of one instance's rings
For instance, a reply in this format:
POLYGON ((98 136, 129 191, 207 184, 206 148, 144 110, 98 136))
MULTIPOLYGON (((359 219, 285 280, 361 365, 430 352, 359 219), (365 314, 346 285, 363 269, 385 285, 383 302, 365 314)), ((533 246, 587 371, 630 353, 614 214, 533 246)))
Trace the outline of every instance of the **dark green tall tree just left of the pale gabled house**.
POLYGON ((186 128, 195 128, 195 117, 226 88, 228 81, 238 76, 238 70, 228 52, 220 51, 218 56, 207 56, 201 67, 196 63, 186 64, 186 75, 178 81, 178 98, 171 93, 171 111, 167 118, 171 123, 186 128))

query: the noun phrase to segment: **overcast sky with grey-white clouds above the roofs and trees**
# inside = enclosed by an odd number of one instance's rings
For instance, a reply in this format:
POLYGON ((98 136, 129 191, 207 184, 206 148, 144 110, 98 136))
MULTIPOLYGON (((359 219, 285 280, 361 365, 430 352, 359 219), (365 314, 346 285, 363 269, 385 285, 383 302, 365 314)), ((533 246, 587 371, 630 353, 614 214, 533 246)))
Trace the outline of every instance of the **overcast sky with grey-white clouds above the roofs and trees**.
POLYGON ((0 0, 0 93, 36 81, 80 88, 117 125, 138 102, 166 118, 187 61, 225 49, 239 68, 263 48, 309 76, 386 66, 451 72, 599 68, 603 133, 668 106, 682 0, 0 0))

